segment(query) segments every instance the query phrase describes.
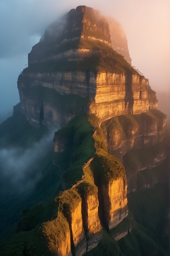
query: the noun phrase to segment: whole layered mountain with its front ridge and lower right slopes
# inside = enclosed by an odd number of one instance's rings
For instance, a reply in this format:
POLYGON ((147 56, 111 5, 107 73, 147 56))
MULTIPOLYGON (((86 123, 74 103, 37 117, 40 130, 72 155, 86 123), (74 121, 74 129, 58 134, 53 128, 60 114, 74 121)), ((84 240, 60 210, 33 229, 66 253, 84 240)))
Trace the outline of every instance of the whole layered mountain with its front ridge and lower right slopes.
POLYGON ((128 62, 121 26, 86 6, 33 46, 2 145, 29 148, 58 131, 2 256, 168 255, 169 129, 128 62))

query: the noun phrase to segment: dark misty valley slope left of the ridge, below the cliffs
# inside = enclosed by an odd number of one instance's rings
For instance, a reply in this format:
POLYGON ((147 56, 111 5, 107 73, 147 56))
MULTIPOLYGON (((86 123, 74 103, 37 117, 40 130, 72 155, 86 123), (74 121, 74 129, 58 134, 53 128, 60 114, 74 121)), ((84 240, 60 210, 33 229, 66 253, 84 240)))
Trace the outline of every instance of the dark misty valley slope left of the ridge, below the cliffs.
POLYGON ((36 129, 29 124, 24 114, 15 111, 13 116, 0 124, 0 139, 2 156, 4 153, 8 154, 8 163, 5 162, 7 166, 5 167, 3 162, 0 164, 2 239, 15 228, 23 208, 56 195, 62 188, 62 180, 52 162, 53 135, 49 135, 45 125, 36 129), (39 147, 41 154, 37 152, 39 147), (33 157, 32 151, 37 154, 36 163, 30 159, 29 168, 25 170, 27 158, 33 157), (17 166, 14 166, 16 170, 13 172, 10 163, 18 164, 18 171, 17 166))

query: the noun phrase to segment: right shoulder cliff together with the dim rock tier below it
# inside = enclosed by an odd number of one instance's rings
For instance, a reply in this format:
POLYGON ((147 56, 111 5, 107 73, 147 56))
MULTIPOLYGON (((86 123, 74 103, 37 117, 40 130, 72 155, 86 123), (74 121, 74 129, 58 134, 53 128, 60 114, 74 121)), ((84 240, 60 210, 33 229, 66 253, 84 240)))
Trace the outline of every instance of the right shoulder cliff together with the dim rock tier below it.
POLYGON ((102 123, 108 152, 125 166, 128 192, 140 190, 137 185, 140 170, 152 169, 167 159, 165 124, 166 115, 157 109, 138 115, 116 116, 102 123))

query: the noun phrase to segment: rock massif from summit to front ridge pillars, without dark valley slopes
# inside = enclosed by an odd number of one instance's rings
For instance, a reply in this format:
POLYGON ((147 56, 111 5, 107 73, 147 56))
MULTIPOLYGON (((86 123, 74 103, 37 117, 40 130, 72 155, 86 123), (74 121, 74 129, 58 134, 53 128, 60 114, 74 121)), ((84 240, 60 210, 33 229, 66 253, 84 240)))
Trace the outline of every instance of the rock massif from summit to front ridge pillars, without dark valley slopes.
POLYGON ((116 241, 129 234, 127 191, 148 188, 142 171, 168 156, 156 93, 126 60, 120 25, 78 6, 46 29, 18 77, 18 108, 30 124, 60 129, 53 164, 63 191, 44 203, 53 217, 40 218, 51 255, 83 255, 102 240, 102 227, 116 241))

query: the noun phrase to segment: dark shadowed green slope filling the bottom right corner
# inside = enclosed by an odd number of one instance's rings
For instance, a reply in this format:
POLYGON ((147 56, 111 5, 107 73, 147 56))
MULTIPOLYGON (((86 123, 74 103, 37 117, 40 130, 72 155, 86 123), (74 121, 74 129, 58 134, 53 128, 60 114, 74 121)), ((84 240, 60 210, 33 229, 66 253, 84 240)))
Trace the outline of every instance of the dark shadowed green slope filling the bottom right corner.
POLYGON ((124 255, 169 255, 169 238, 164 232, 165 212, 169 207, 168 187, 158 183, 152 189, 131 192, 127 196, 135 221, 131 234, 118 241, 124 255))

